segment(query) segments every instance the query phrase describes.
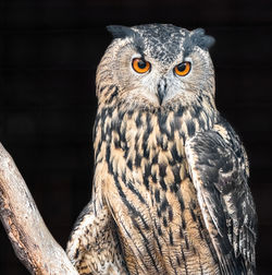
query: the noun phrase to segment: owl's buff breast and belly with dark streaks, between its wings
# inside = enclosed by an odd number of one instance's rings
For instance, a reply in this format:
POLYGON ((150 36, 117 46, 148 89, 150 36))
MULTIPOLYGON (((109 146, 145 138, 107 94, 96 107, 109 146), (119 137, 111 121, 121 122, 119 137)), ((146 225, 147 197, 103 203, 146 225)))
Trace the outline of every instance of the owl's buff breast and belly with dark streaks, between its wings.
POLYGON ((125 128, 121 123, 106 132, 97 175, 131 274, 201 274, 199 254, 208 255, 201 259, 208 265, 213 260, 183 135, 157 122, 137 127, 126 121, 125 128))

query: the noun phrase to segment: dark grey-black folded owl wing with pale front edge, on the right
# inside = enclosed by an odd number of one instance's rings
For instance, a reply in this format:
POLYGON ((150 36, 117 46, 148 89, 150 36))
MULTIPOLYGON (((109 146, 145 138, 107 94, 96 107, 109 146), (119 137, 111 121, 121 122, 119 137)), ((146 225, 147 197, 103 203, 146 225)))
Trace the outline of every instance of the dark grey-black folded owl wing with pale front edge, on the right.
POLYGON ((257 215, 238 136, 224 121, 189 139, 185 152, 222 274, 255 274, 257 215))

